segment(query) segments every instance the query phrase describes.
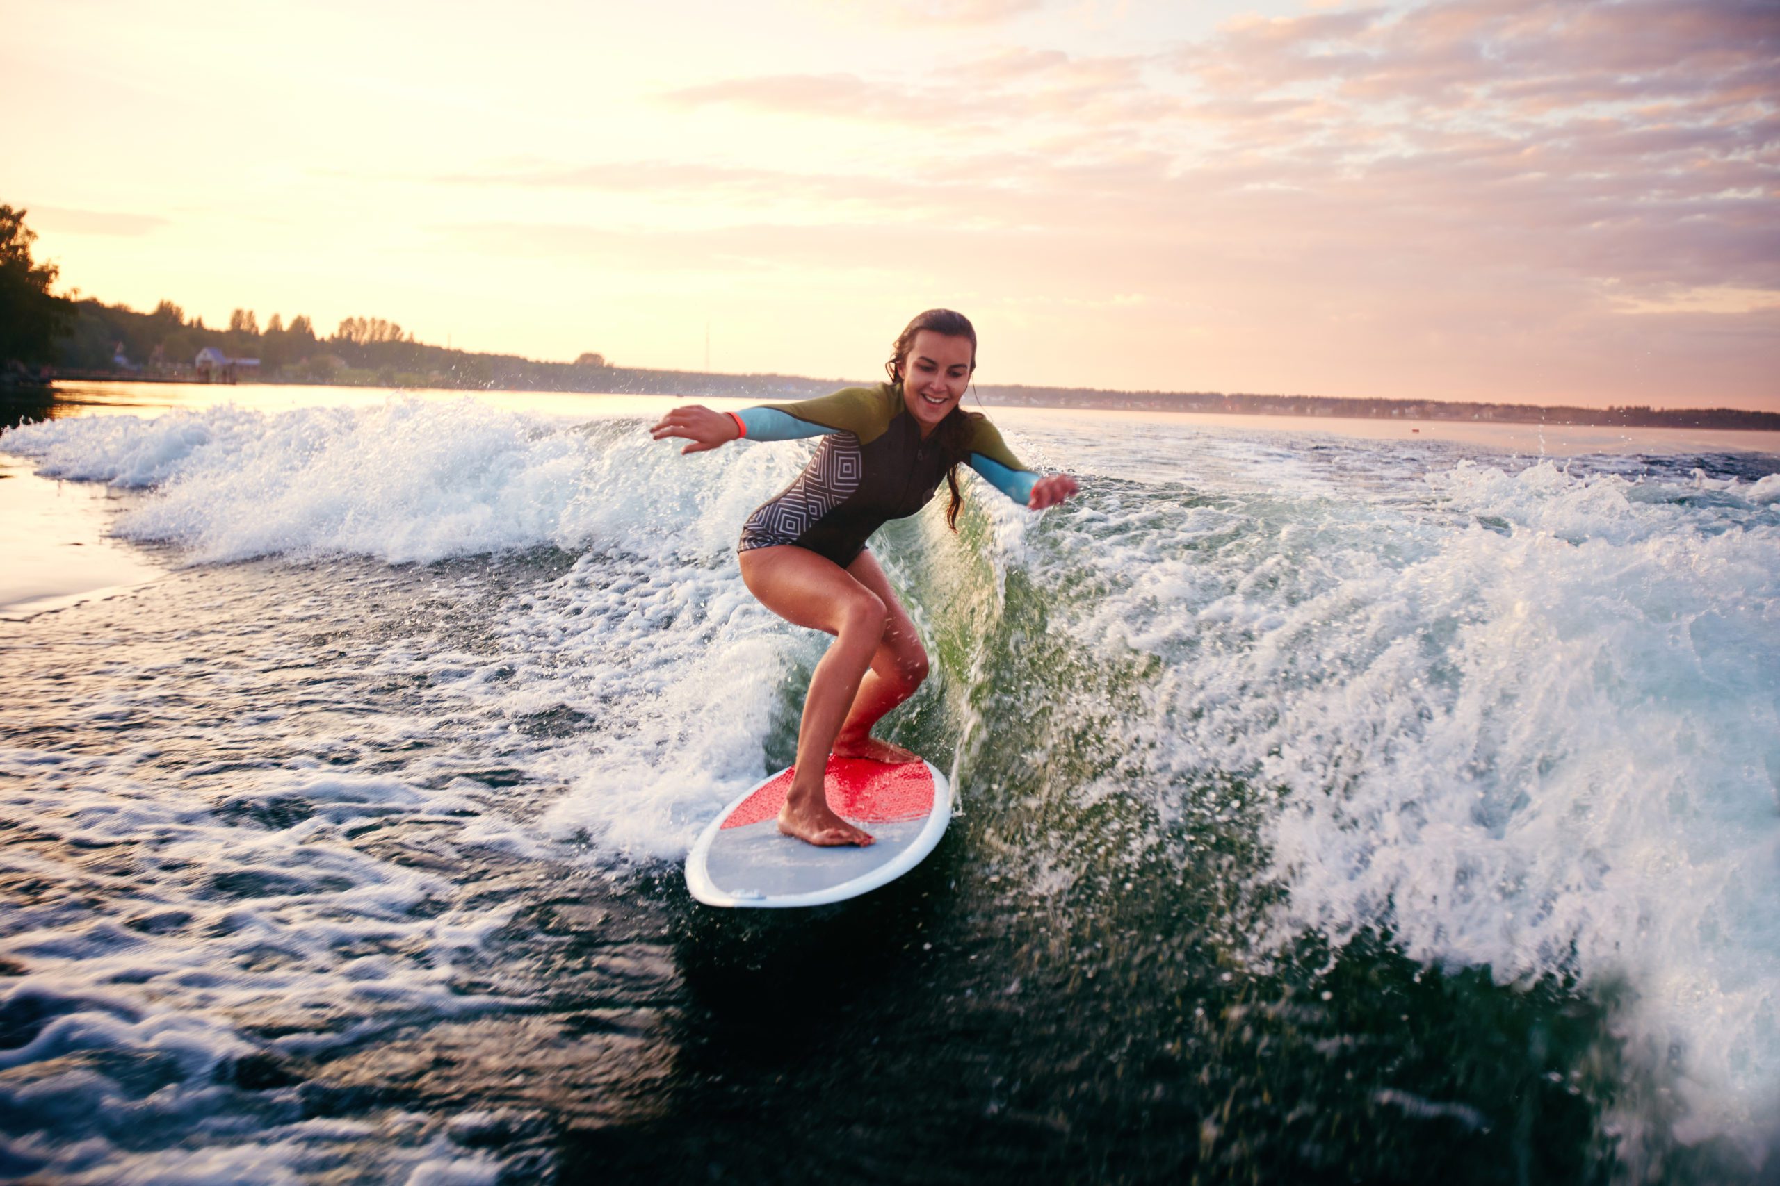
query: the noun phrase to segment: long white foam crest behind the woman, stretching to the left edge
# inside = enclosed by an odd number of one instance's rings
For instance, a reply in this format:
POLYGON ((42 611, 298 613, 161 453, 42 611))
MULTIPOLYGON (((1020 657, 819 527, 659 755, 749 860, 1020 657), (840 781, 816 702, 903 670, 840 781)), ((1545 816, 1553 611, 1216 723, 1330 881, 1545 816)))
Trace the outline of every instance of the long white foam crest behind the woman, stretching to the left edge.
MULTIPOLYGON (((0 436, 39 473, 155 485, 128 539, 194 560, 356 553, 427 562, 504 548, 723 548, 794 450, 682 459, 639 421, 577 425, 470 398, 52 420, 0 436), (726 480, 691 475, 719 469, 726 480)), ((776 478, 776 480, 774 480, 776 478)))

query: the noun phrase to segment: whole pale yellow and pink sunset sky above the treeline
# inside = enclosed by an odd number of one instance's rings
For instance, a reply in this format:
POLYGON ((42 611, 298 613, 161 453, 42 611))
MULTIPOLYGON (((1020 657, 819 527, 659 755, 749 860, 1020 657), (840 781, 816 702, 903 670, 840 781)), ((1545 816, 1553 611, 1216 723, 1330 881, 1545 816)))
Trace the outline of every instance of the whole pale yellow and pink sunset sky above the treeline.
POLYGON ((865 379, 1780 411, 1776 0, 11 0, 107 302, 865 379))

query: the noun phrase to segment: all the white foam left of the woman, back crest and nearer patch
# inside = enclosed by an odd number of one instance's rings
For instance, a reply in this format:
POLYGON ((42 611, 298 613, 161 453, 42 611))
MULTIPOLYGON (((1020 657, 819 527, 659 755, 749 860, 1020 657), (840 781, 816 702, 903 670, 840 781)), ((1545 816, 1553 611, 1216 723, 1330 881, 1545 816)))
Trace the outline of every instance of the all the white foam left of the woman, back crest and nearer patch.
POLYGON ((742 519, 801 468, 799 445, 682 457, 639 421, 408 398, 61 420, 11 430, 0 448, 46 475, 155 484, 116 530, 192 560, 587 553, 495 622, 498 658, 384 661, 424 669, 497 717, 566 708, 598 720, 543 747, 530 770, 570 791, 546 832, 591 836, 609 853, 684 852, 764 773, 774 674, 810 645, 755 603, 732 560, 742 519), (714 699, 717 686, 735 695, 714 699))

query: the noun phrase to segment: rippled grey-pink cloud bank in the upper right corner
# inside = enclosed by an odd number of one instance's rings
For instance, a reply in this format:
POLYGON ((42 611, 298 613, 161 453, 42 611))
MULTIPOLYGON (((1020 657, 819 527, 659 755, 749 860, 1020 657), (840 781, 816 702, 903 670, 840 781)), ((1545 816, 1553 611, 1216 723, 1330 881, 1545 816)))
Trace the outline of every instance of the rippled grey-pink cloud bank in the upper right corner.
POLYGON ((1780 290, 1773 4, 1458 0, 1226 25, 1171 64, 1219 142, 1454 260, 1780 290), (1433 235, 1445 238, 1435 244, 1433 235))

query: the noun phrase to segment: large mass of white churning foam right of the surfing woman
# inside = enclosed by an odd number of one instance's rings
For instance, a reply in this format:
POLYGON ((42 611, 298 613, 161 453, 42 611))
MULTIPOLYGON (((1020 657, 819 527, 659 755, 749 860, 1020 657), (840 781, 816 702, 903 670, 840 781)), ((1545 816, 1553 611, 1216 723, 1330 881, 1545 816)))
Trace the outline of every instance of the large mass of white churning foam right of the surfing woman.
POLYGON ((1388 925, 1502 980, 1623 980, 1634 1051, 1686 1051, 1682 1133, 1759 1138, 1780 1102, 1780 521, 1550 464, 1428 489, 1084 523, 1057 562, 1116 592, 1075 629, 1168 660, 1132 722, 1159 773, 1283 791, 1278 939, 1388 925))

